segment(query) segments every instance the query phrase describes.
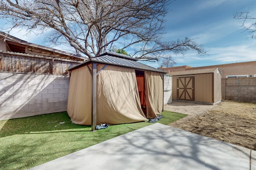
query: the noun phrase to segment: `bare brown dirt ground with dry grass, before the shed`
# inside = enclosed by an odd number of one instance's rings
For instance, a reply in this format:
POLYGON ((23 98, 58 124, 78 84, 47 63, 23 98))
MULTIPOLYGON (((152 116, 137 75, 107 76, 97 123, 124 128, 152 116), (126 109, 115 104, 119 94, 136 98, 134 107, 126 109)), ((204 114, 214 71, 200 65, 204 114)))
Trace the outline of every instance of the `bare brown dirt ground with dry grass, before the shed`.
POLYGON ((256 103, 224 101, 212 106, 173 102, 164 109, 188 114, 169 124, 172 127, 256 150, 256 103))

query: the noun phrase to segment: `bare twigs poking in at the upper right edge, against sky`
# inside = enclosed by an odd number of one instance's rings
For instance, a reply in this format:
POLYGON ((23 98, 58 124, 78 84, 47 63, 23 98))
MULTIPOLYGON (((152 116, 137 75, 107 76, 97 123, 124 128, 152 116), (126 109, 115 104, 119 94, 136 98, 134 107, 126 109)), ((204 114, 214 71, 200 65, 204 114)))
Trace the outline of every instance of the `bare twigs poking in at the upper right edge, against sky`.
POLYGON ((256 17, 249 16, 250 12, 239 12, 234 15, 235 19, 243 20, 242 27, 244 27, 245 31, 248 31, 252 35, 250 37, 256 38, 256 17), (249 21, 249 25, 247 25, 247 21, 249 21))

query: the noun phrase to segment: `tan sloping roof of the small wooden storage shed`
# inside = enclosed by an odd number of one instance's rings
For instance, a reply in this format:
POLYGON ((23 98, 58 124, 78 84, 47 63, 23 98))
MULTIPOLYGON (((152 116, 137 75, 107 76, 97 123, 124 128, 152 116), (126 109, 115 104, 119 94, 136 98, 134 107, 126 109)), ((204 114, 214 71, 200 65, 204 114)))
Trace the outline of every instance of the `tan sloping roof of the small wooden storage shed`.
POLYGON ((169 75, 172 76, 181 76, 181 75, 190 75, 190 74, 205 74, 205 73, 213 73, 218 68, 205 68, 205 69, 198 69, 198 70, 183 70, 183 71, 173 71, 169 72, 169 75))

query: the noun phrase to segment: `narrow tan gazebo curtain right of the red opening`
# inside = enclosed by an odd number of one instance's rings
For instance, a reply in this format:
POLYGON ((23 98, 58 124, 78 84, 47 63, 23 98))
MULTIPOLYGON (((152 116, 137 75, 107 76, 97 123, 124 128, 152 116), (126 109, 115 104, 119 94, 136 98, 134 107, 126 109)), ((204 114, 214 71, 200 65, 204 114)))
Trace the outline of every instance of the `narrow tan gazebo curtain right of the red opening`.
POLYGON ((157 72, 145 71, 147 118, 155 118, 163 109, 163 80, 157 72))

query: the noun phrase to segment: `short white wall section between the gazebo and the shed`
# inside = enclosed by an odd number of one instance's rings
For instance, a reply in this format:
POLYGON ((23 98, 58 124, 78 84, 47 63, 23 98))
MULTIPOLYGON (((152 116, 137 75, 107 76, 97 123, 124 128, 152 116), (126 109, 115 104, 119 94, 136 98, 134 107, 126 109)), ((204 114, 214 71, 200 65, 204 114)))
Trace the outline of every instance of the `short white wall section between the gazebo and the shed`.
POLYGON ((164 104, 172 103, 172 76, 164 76, 164 104))

